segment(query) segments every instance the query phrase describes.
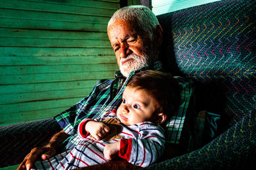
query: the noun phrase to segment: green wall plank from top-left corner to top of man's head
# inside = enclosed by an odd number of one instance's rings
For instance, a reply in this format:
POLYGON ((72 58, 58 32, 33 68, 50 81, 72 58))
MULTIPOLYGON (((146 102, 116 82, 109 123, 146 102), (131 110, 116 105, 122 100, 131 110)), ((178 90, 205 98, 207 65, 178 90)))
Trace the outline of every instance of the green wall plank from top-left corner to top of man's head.
MULTIPOLYGON (((49 13, 69 13, 76 15, 93 15, 111 17, 118 8, 104 8, 104 6, 81 6, 66 3, 45 3, 33 1, 0 1, 1 8, 29 11, 47 11, 49 13), (31 9, 33 6, 33 9, 31 9)), ((113 4, 112 4, 113 6, 113 4)), ((110 7, 110 6, 109 6, 110 7)))

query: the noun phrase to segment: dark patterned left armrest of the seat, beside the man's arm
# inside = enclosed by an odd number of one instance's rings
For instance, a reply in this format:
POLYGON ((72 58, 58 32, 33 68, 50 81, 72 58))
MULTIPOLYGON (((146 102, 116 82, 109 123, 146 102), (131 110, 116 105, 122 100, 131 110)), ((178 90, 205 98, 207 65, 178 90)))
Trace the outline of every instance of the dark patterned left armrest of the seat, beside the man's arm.
POLYGON ((0 127, 0 167, 20 164, 31 149, 45 145, 60 130, 53 118, 0 127))

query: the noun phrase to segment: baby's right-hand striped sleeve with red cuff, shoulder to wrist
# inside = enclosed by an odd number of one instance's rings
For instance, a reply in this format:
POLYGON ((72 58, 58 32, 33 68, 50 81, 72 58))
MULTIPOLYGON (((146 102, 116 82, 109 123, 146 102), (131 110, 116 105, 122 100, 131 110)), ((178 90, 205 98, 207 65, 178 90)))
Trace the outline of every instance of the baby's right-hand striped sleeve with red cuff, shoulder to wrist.
POLYGON ((153 124, 140 125, 140 138, 120 140, 119 157, 141 167, 147 167, 161 158, 164 152, 164 130, 153 124))

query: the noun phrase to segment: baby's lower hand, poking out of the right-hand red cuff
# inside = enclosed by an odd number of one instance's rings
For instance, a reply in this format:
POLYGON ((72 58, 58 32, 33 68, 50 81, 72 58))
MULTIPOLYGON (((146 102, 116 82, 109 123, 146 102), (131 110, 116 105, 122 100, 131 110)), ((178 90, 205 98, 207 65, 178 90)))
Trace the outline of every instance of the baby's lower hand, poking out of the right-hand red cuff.
POLYGON ((108 160, 112 160, 118 155, 120 150, 120 141, 117 141, 115 143, 109 143, 104 148, 104 157, 108 160))

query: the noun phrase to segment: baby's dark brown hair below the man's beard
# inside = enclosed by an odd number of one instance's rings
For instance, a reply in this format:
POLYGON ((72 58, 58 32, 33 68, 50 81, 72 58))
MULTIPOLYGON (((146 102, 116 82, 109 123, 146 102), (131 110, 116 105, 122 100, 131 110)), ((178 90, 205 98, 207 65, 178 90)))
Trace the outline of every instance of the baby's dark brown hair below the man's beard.
POLYGON ((161 71, 141 71, 134 74, 127 87, 145 90, 156 101, 155 112, 170 118, 180 104, 179 82, 170 73, 161 71))

